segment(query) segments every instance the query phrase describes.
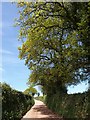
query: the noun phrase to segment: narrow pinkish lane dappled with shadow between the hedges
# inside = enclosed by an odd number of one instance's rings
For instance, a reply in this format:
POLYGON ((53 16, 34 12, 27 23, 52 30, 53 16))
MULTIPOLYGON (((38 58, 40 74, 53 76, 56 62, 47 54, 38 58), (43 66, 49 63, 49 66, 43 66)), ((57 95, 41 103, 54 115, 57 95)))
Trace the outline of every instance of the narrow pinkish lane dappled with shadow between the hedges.
POLYGON ((43 102, 35 100, 35 105, 21 120, 62 120, 62 118, 49 110, 43 102))

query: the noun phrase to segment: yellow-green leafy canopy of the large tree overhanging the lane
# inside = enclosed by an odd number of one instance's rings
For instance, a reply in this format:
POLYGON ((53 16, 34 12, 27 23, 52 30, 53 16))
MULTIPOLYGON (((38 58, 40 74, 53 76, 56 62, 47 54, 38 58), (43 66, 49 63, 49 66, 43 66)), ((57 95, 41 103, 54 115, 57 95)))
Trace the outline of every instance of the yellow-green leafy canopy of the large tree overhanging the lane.
POLYGON ((20 2, 20 59, 30 82, 44 89, 85 80, 90 73, 90 2, 20 2))

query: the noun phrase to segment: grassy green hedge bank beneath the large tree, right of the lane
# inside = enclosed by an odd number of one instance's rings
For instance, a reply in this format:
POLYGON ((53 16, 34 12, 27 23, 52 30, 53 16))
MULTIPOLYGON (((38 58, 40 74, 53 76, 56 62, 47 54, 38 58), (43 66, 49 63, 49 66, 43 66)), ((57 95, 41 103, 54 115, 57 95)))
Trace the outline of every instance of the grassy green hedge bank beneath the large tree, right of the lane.
POLYGON ((71 95, 54 94, 47 96, 45 103, 50 109, 64 118, 83 120, 90 117, 89 98, 90 92, 71 95))

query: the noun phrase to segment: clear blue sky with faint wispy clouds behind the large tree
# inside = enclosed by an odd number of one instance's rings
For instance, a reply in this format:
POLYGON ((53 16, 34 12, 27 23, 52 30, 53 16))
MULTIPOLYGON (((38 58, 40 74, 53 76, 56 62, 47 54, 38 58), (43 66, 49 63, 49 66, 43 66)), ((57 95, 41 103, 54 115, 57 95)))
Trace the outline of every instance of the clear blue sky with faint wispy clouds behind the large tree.
MULTIPOLYGON (((14 27, 14 19, 19 17, 16 5, 2 2, 0 16, 2 17, 2 21, 0 20, 0 38, 2 38, 2 40, 0 39, 0 76, 2 73, 2 80, 0 78, 0 81, 6 82, 16 90, 24 91, 28 87, 26 83, 31 72, 25 66, 24 60, 18 58, 18 46, 21 43, 18 41, 19 28, 14 27)), ((87 90, 85 84, 68 87, 68 93, 87 90)))

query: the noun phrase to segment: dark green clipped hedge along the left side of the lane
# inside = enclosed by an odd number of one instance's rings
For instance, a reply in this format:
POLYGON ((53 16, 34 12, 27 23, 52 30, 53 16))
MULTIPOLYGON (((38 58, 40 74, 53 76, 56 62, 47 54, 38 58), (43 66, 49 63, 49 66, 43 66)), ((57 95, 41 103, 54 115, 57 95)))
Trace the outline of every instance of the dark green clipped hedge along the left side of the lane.
POLYGON ((2 120, 20 120, 33 104, 30 95, 13 90, 6 83, 2 84, 2 120))

